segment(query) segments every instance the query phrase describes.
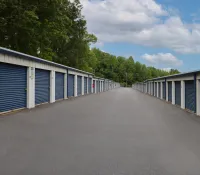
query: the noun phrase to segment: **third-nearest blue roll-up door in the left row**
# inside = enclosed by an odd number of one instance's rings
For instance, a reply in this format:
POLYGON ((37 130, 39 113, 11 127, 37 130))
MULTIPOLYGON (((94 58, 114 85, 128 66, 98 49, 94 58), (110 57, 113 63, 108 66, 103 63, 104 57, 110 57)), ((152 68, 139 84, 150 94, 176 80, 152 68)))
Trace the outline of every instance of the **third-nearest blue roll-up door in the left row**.
POLYGON ((64 99, 64 74, 56 72, 55 99, 64 99))

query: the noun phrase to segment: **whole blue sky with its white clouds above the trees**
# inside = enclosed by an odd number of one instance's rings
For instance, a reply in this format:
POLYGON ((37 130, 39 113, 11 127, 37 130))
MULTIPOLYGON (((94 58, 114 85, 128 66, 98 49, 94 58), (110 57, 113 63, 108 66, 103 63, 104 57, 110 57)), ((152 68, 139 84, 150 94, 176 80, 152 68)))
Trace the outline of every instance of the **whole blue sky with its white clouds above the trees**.
POLYGON ((101 50, 157 68, 200 69, 200 1, 81 2, 101 50))

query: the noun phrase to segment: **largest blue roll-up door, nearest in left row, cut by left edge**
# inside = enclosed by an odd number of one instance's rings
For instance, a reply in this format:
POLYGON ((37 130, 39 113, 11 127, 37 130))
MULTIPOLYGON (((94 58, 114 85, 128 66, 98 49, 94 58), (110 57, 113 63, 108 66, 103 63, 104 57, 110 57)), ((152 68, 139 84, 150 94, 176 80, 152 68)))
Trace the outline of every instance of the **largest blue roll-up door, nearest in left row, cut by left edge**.
POLYGON ((0 112, 26 107, 27 68, 0 63, 0 112))

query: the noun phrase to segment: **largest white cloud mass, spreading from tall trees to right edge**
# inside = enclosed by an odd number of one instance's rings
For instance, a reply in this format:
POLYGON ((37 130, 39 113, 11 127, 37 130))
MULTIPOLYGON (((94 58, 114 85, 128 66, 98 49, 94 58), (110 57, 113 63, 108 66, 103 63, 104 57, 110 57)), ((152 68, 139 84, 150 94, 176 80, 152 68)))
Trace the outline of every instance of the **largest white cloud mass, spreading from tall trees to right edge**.
MULTIPOLYGON (((154 0, 81 0, 88 30, 100 42, 129 42, 200 53, 200 24, 185 24, 154 0)), ((173 13, 172 13, 173 11, 173 13)))

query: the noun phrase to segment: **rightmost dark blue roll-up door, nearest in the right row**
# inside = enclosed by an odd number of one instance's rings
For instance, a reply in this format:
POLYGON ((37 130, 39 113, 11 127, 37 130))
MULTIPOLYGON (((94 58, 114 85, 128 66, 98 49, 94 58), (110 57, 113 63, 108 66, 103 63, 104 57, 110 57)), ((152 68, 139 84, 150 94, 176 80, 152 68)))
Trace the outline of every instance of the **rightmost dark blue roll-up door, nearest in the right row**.
POLYGON ((194 81, 185 81, 185 108, 195 111, 195 104, 194 81))

